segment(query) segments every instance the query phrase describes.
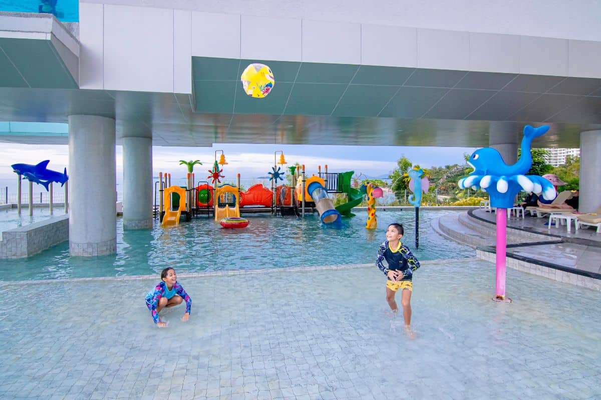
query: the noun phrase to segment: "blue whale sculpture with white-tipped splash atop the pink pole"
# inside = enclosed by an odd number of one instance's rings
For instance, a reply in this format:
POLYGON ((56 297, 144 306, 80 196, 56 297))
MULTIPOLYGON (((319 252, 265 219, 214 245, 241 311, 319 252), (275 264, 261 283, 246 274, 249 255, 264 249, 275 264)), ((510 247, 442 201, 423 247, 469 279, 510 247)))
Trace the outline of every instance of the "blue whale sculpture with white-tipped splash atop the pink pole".
POLYGON ((545 178, 537 175, 523 175, 532 166, 530 146, 535 137, 543 136, 549 130, 549 125, 532 128, 524 127, 522 138, 522 155, 517 163, 508 166, 496 149, 483 148, 472 153, 468 164, 474 169, 467 178, 457 182, 460 188, 478 187, 490 196, 490 206, 499 208, 513 207, 513 200, 520 190, 534 192, 547 200, 555 199, 557 192, 545 178))

